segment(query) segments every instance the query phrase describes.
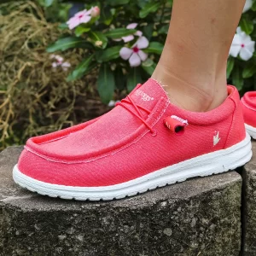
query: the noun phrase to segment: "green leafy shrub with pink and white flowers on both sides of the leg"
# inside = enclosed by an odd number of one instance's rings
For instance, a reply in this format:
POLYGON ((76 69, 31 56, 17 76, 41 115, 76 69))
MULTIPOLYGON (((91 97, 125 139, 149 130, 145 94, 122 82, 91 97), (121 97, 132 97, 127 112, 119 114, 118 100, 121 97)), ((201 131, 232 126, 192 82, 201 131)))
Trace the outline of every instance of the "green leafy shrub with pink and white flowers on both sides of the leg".
MULTIPOLYGON (((98 67, 100 73, 97 89, 102 102, 108 103, 113 97, 114 90, 126 88, 131 91, 137 83, 148 79, 153 73, 166 40, 172 0, 84 1, 84 13, 79 13, 82 19, 83 15, 86 16, 86 10, 91 12, 87 13, 87 20, 80 20, 80 24, 76 23, 76 17, 69 20, 66 26, 69 26, 72 35, 65 37, 63 33, 63 37, 49 46, 48 51, 88 49, 88 55, 68 75, 67 81, 80 79, 84 74, 90 73, 92 67, 98 67), (95 8, 100 9, 97 15, 93 13, 95 8), (131 23, 136 23, 137 26, 129 26, 131 23), (125 42, 127 36, 133 36, 133 40, 125 42), (128 54, 127 48, 137 51, 137 42, 140 38, 148 40, 147 47, 143 49, 145 58, 143 61, 137 60, 136 63, 133 60, 131 63, 131 58, 129 61, 126 60, 128 56, 122 53, 125 51, 128 54)), ((244 49, 239 50, 240 55, 236 52, 233 57, 230 56, 228 62, 228 82, 236 84, 241 93, 255 89, 255 11, 256 2, 247 0, 247 7, 240 21, 241 31, 236 34, 236 39, 243 38, 241 42, 244 40, 247 43, 244 43, 244 49), (251 52, 246 56, 242 55, 242 50, 247 49, 251 52)), ((235 43, 234 41, 232 49, 235 43)))

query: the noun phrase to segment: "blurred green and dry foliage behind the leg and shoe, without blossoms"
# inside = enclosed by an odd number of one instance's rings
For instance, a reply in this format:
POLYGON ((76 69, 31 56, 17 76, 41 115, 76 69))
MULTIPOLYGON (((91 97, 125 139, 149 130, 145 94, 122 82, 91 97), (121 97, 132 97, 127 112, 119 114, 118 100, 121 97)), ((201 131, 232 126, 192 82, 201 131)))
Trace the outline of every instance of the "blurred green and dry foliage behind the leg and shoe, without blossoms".
MULTIPOLYGON (((61 0, 0 3, 0 149, 105 113, 110 109, 106 104, 110 99, 123 98, 153 72, 166 39, 171 0, 81 2, 87 9, 99 6, 101 16, 90 24, 90 31, 79 35, 65 26, 70 3, 61 0), (138 23, 138 29, 150 42, 146 49, 148 61, 139 67, 130 67, 128 61, 121 60, 119 50, 109 52, 113 47, 124 46, 124 42, 114 41, 109 32, 122 29, 124 33, 125 26, 132 22, 138 23), (82 38, 84 45, 61 49, 55 43, 60 38, 82 38), (103 46, 96 45, 99 39, 103 46), (49 52, 55 51, 71 63, 70 70, 52 68, 49 52), (81 62, 87 63, 91 55, 90 65, 82 65, 81 69, 81 62), (102 58, 106 55, 107 58, 102 58), (102 76, 107 80, 102 80, 102 76)), ((256 40, 255 11, 253 2, 240 23, 253 40, 256 40)), ((227 73, 229 83, 236 84, 241 95, 255 90, 256 55, 249 61, 230 57, 227 73)))

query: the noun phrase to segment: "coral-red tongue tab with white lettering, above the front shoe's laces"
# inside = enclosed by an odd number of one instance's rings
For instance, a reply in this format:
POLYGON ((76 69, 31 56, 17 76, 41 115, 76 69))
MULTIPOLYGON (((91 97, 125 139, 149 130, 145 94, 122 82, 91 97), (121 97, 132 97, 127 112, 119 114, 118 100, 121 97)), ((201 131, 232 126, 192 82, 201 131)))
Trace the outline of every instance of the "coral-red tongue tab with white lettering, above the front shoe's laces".
POLYGON ((137 105, 148 110, 152 110, 162 96, 167 97, 166 91, 163 90, 162 86, 154 79, 148 79, 148 81, 137 88, 137 90, 133 90, 130 96, 137 105))

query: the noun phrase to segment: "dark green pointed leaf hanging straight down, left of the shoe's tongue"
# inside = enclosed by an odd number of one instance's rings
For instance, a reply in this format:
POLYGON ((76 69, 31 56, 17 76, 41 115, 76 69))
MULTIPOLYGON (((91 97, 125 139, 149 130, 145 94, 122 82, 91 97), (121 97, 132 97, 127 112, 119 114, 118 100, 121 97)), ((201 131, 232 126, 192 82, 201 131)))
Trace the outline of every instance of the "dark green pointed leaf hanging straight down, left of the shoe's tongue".
POLYGON ((114 87, 115 84, 112 70, 107 63, 102 64, 97 79, 97 90, 103 103, 108 104, 108 102, 112 100, 114 87))

